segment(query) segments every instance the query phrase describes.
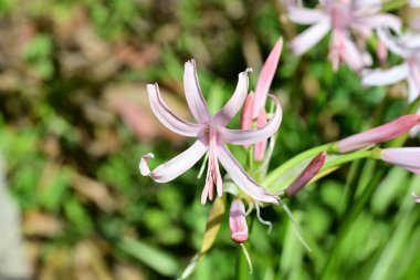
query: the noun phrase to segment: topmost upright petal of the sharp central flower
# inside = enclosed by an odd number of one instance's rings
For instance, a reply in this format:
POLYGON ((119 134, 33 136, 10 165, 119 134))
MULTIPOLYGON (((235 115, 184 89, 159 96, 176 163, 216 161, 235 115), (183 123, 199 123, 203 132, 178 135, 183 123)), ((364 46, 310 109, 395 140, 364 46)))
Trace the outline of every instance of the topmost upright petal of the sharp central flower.
POLYGON ((210 113, 198 82, 195 60, 187 61, 185 64, 183 87, 192 115, 199 123, 207 122, 210 118, 210 113))

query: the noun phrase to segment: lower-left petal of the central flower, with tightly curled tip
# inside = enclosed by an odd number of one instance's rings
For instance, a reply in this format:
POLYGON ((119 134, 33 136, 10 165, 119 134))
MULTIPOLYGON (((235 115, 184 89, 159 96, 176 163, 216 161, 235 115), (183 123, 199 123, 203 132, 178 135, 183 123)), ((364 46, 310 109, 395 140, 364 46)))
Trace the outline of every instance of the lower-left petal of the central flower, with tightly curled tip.
POLYGON ((206 152, 207 146, 197 141, 188 149, 174 157, 169 162, 159 165, 153 172, 147 165, 147 162, 149 158, 154 158, 155 155, 148 153, 141 157, 139 169, 143 176, 149 176, 157 183, 167 183, 191 168, 198 162, 198 159, 204 155, 206 152))

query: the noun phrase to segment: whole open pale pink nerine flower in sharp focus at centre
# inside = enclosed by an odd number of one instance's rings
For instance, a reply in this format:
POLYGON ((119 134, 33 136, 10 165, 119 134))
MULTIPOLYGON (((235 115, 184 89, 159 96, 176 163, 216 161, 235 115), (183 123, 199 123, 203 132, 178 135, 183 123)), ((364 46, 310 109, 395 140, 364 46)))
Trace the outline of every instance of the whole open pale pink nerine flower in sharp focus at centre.
POLYGON ((154 154, 148 153, 140 159, 139 168, 144 176, 151 177, 157 183, 166 183, 178 177, 191 168, 206 153, 209 155, 206 185, 201 194, 201 203, 214 197, 214 187, 218 196, 222 195, 222 177, 219 170, 219 162, 228 172, 232 180, 255 200, 264 203, 277 203, 277 197, 267 194, 242 168, 238 160, 225 147, 225 143, 233 145, 251 145, 272 136, 282 122, 282 108, 279 101, 275 102, 276 111, 272 118, 259 129, 229 129, 225 125, 242 107, 248 94, 248 72, 239 74, 237 89, 229 102, 214 115, 209 113, 206 100, 197 77, 196 62, 188 61, 185 64, 183 87, 188 106, 197 120, 197 124, 178 117, 164 102, 157 84, 148 84, 147 91, 150 107, 157 118, 169 129, 183 136, 197 137, 197 141, 187 151, 174 157, 169 162, 159 165, 153 172, 148 167, 148 159, 154 154))

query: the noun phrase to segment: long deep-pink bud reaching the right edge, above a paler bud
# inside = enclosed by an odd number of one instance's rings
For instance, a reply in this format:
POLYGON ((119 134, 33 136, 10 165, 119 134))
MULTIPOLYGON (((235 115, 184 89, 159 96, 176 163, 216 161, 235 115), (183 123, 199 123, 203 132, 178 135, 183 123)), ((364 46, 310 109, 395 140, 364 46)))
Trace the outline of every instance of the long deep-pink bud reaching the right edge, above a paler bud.
POLYGON ((396 138, 420 124, 420 115, 405 115, 388 124, 358 133, 338 142, 338 151, 347 153, 396 138))

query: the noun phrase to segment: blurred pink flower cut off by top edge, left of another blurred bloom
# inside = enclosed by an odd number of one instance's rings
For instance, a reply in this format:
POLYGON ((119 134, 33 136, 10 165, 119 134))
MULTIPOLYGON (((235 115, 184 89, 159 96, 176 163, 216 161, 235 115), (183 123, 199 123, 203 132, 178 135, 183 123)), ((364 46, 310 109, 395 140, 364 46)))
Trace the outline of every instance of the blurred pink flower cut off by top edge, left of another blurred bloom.
POLYGON ((347 63, 354 71, 371 64, 370 55, 354 42, 351 33, 365 41, 379 25, 395 30, 401 25, 397 17, 379 13, 381 0, 319 0, 319 4, 321 9, 316 10, 288 3, 290 20, 311 25, 292 41, 291 46, 296 55, 301 55, 332 31, 328 59, 334 70, 340 62, 347 63))

